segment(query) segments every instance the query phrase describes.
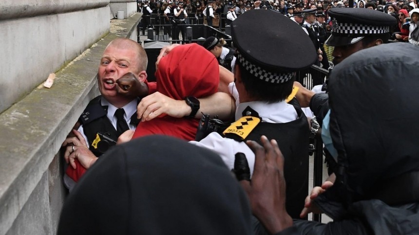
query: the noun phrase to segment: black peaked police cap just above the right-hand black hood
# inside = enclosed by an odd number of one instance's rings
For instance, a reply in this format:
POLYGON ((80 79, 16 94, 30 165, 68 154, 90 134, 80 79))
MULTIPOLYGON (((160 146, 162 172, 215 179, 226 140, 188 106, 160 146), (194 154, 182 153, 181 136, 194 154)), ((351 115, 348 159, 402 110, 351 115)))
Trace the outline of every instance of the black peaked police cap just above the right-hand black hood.
POLYGON ((360 41, 364 36, 385 34, 396 18, 367 8, 333 8, 327 13, 332 19, 332 35, 328 46, 345 46, 360 41))

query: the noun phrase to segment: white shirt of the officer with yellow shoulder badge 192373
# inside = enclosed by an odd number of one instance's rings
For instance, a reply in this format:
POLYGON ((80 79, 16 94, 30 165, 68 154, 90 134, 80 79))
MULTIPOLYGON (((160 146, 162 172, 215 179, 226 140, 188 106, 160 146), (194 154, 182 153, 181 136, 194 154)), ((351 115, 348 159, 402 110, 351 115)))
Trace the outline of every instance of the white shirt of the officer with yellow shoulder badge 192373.
MULTIPOLYGON (((234 93, 234 87, 232 92, 234 93)), ((287 123, 296 120, 298 117, 295 108, 292 105, 288 105, 285 101, 274 104, 253 101, 241 103, 237 106, 236 120, 242 117, 243 110, 248 106, 259 113, 263 122, 287 123)), ((224 163, 226 163, 229 169, 234 168, 234 155, 238 152, 244 153, 246 155, 246 159, 248 160, 250 175, 253 174, 255 154, 245 142, 238 142, 233 139, 223 138, 217 132, 212 132, 200 142, 190 141, 190 143, 192 145, 205 147, 214 151, 220 155, 221 159, 224 163)))

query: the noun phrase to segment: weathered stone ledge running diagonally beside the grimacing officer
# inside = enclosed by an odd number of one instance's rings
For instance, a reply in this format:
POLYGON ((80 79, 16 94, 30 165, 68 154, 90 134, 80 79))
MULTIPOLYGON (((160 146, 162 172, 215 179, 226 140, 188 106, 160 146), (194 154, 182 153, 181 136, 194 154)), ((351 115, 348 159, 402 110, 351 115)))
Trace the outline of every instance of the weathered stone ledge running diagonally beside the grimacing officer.
MULTIPOLYGON (((38 87, 0 114, 0 235, 16 231, 20 231, 19 234, 37 234, 30 227, 25 230, 24 227, 31 223, 17 221, 17 217, 31 219, 42 213, 39 208, 52 211, 51 206, 56 206, 45 199, 48 190, 54 187, 48 182, 51 174, 49 166, 56 161, 61 143, 84 107, 98 94, 96 73, 106 45, 117 37, 136 38, 140 16, 135 13, 125 20, 112 20, 111 33, 56 72, 51 89, 38 87), (32 207, 28 203, 46 204, 32 207), (26 211, 22 211, 23 207, 26 211), (38 209, 31 211, 31 208, 38 209)), ((46 213, 49 217, 52 214, 57 215, 57 212, 46 213)), ((51 224, 45 226, 51 227, 51 224)), ((43 229, 47 233, 55 231, 55 228, 43 229)))

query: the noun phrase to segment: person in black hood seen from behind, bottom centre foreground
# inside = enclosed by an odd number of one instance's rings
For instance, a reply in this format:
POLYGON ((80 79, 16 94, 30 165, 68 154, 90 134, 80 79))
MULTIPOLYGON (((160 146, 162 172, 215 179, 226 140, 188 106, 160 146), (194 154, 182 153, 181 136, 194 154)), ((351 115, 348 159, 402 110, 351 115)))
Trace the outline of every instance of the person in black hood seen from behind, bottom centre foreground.
POLYGON ((250 235, 243 189, 215 153, 167 136, 109 150, 66 199, 58 235, 250 235))

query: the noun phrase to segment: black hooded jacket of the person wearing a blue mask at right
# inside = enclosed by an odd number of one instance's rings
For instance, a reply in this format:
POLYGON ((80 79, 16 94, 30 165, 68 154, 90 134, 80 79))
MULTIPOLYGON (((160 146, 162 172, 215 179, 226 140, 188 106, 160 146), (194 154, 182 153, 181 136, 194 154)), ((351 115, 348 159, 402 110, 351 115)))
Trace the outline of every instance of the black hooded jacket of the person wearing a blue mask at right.
POLYGON ((334 68, 329 105, 337 179, 315 200, 334 221, 296 220, 280 235, 419 234, 418 54, 407 43, 385 44, 334 68))

